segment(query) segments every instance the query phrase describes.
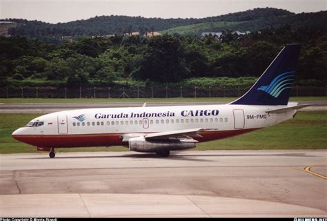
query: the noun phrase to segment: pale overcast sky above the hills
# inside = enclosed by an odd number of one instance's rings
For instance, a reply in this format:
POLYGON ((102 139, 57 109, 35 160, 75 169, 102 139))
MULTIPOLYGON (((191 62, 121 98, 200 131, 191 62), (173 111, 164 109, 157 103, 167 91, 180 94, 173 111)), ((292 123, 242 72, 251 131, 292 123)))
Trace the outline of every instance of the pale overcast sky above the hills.
POLYGON ((0 0, 0 19, 68 22, 101 15, 203 18, 253 8, 326 10, 327 0, 0 0))

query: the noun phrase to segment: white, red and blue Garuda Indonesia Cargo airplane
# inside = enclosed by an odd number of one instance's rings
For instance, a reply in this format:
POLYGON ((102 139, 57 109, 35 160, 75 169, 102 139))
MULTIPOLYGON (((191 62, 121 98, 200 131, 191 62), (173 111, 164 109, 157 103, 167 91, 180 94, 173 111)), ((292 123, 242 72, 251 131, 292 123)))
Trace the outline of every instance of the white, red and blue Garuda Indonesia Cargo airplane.
POLYGON ((197 142, 257 131, 295 117, 288 102, 301 46, 286 45, 255 84, 224 105, 86 108, 59 111, 32 119, 12 137, 39 151, 88 146, 126 146, 130 151, 157 153, 195 148, 197 142))

